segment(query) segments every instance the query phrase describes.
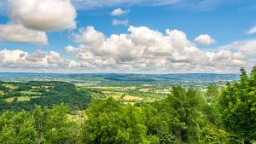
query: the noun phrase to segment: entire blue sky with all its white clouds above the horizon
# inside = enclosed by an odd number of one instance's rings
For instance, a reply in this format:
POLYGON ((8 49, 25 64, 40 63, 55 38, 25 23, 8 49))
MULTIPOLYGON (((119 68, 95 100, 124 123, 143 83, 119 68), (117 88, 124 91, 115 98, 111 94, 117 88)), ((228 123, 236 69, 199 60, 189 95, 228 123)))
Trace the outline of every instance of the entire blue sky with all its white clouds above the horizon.
POLYGON ((254 0, 1 0, 0 72, 237 73, 254 0))

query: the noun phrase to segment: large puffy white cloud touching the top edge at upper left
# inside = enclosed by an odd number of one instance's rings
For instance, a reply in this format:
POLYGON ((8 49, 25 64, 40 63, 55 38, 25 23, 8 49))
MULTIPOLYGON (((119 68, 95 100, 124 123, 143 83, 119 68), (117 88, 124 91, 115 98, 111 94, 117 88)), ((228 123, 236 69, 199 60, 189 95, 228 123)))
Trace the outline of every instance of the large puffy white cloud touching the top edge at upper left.
POLYGON ((8 0, 15 22, 39 31, 76 27, 76 9, 70 0, 8 0))

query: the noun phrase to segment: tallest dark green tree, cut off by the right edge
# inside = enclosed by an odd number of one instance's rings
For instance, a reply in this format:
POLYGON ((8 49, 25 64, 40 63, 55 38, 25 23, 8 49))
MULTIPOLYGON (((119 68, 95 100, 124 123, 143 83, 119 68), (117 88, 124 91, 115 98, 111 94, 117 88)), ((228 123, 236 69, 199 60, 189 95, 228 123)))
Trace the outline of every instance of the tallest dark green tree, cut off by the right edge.
POLYGON ((256 139, 255 76, 255 66, 250 78, 241 68, 240 81, 227 84, 218 101, 224 128, 240 136, 245 143, 252 143, 256 139))

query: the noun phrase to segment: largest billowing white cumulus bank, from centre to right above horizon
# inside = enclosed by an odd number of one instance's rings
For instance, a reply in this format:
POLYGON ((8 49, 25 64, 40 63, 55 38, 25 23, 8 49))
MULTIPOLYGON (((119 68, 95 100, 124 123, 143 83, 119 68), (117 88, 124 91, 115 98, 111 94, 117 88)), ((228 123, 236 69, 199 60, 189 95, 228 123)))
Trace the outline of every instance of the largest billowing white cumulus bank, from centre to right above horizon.
POLYGON ((184 32, 165 33, 130 26, 127 33, 106 37, 89 26, 75 37, 79 47, 68 46, 79 66, 114 72, 237 72, 253 66, 240 50, 199 49, 184 32))

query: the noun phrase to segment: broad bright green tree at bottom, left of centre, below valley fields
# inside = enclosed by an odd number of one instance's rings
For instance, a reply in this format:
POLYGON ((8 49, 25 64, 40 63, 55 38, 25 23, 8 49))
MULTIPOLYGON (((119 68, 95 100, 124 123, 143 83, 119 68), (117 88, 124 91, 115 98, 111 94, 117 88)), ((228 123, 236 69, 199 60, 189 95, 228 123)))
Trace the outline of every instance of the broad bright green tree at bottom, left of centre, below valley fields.
POLYGON ((86 110, 83 139, 88 144, 157 144, 158 138, 147 135, 143 112, 139 107, 122 106, 119 101, 94 100, 86 110))

